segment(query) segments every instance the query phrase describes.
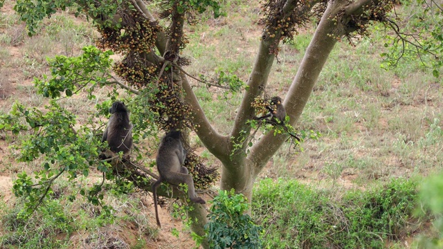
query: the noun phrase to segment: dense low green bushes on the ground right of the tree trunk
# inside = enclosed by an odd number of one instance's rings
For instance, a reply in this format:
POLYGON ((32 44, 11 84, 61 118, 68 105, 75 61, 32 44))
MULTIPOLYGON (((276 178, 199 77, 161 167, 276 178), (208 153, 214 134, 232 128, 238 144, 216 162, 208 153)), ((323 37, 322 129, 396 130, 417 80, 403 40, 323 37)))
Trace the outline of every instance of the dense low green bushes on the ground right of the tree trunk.
POLYGON ((340 199, 295 180, 266 179, 253 196, 265 248, 384 248, 385 240, 406 235, 405 225, 416 222, 410 216, 417 183, 402 179, 340 199))

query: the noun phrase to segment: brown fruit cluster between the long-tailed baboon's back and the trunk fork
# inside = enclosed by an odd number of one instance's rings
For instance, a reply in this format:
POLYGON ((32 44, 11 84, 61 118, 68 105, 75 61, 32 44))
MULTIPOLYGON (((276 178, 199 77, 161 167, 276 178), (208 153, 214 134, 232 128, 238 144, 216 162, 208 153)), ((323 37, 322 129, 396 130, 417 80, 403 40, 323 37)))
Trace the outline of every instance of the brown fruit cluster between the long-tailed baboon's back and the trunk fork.
POLYGON ((188 168, 189 173, 192 174, 194 185, 197 190, 206 190, 215 181, 218 181, 220 174, 217 168, 207 168, 200 162, 199 156, 194 152, 188 152, 185 160, 185 167, 188 168))

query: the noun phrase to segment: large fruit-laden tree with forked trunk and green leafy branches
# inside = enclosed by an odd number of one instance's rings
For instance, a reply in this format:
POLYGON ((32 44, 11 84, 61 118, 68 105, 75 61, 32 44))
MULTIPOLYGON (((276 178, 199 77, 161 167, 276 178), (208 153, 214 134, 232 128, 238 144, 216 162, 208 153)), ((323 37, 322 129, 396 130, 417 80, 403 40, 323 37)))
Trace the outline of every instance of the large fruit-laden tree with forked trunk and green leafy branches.
MULTIPOLYGON (((210 124, 199 106, 188 81, 192 76, 183 70, 189 60, 180 56, 181 49, 188 42, 184 26, 192 24, 199 13, 207 10, 212 10, 215 17, 223 15, 217 1, 162 1, 161 10, 154 15, 141 0, 106 0, 100 3, 90 0, 19 0, 15 10, 26 21, 30 35, 37 32, 39 21, 44 17, 69 7, 76 14, 84 13, 93 20, 102 35, 97 44, 102 50, 89 46, 84 48, 80 57, 59 56, 51 60, 52 75, 35 81, 39 92, 53 99, 47 111, 30 111, 17 104, 10 114, 1 117, 0 129, 14 133, 33 130, 33 136, 19 146, 21 160, 44 157, 44 170, 39 174, 38 183, 44 187, 35 187, 29 176, 21 174, 15 182, 15 192, 28 196, 29 207, 34 207, 50 192, 55 178, 64 172, 72 180, 78 174, 87 176, 91 165, 97 165, 104 178, 150 190, 148 180, 152 179, 149 176, 152 174, 143 166, 122 163, 120 160, 111 161, 110 166, 107 161, 98 160, 102 127, 91 119, 88 124, 74 129, 75 116, 56 101, 62 93, 70 97, 80 89, 87 89, 89 98, 94 98, 96 89, 112 85, 114 91, 110 93, 110 100, 98 104, 101 115, 105 115, 111 101, 117 98, 116 89, 125 89, 129 94, 127 100, 132 110, 135 141, 152 136, 159 129, 194 130, 222 164, 221 189, 234 189, 251 201, 255 178, 282 143, 293 136, 291 126, 300 118, 336 42, 347 39, 352 43, 355 39, 368 36, 370 25, 379 22, 390 30, 386 34, 392 42, 392 46, 386 44, 390 50, 382 54, 386 57, 386 66, 395 66, 399 59, 410 55, 422 59, 424 66, 433 68, 434 75, 439 76, 442 66, 442 8, 433 1, 417 3, 424 7, 422 18, 426 24, 413 34, 403 33, 397 25, 399 17, 394 11, 397 3, 391 0, 269 0, 262 3, 264 28, 246 84, 235 75, 224 72, 220 72, 214 80, 205 77, 197 79, 226 91, 243 91, 232 129, 228 134, 221 134, 210 124), (434 19, 428 18, 430 14, 434 19), (160 25, 159 19, 166 20, 165 27, 160 25), (263 111, 258 108, 263 107, 260 103, 267 100, 264 95, 267 79, 278 56, 280 42, 291 42, 298 28, 313 19, 318 20, 316 32, 284 97, 287 112, 285 123, 288 126, 280 129, 281 126, 271 124, 266 126, 268 132, 260 139, 253 140, 251 136, 255 136, 255 129, 260 127, 260 123, 253 118, 263 111), (124 59, 113 65, 109 59, 112 52, 105 49, 121 53, 124 59), (111 68, 118 77, 114 77, 111 68), (26 124, 15 122, 17 118, 24 118, 26 124)), ((142 147, 140 151, 143 151, 142 147)), ((141 155, 138 153, 137 158, 141 159, 141 155)), ((195 154, 188 156, 186 166, 199 188, 207 187, 217 178, 215 169, 204 167, 195 154)), ((80 193, 88 196, 93 203, 100 203, 101 187, 98 184, 80 193)), ((202 235, 206 212, 200 205, 192 205, 192 208, 190 216, 197 218, 192 228, 202 235)))

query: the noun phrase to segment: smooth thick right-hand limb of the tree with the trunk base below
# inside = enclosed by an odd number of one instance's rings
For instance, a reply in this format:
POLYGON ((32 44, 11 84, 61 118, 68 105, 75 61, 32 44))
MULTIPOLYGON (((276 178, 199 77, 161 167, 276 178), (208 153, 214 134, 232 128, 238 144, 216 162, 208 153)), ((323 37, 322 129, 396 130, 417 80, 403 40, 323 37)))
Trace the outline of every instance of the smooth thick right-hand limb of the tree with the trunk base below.
MULTIPOLYGON (((329 57, 337 42, 336 39, 327 35, 336 28, 327 17, 329 17, 331 12, 336 11, 337 8, 340 8, 337 3, 329 3, 327 6, 327 10, 320 24, 318 24, 316 33, 306 50, 289 92, 284 98, 284 107, 287 115, 291 118, 292 125, 295 125, 298 118, 300 118, 302 110, 305 108, 314 88, 314 84, 318 79, 318 75, 320 75, 327 57, 329 57)), ((251 151, 246 158, 237 158, 237 161, 234 161, 228 167, 224 165, 221 175, 221 189, 230 190, 233 188, 235 192, 244 194, 251 202, 255 178, 257 178, 257 175, 262 171, 271 156, 275 154, 286 139, 287 135, 273 136, 273 134, 269 133, 262 136, 260 141, 251 147, 251 151)))

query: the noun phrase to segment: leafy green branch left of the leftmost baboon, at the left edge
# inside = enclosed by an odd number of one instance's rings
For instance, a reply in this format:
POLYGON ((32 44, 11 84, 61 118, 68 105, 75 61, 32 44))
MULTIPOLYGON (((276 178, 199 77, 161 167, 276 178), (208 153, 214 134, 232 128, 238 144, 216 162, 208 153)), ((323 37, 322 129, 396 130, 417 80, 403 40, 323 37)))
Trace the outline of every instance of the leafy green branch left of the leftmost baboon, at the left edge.
MULTIPOLYGON (((50 100, 50 105, 45 108, 46 111, 35 107, 26 109, 22 104, 15 103, 10 113, 0 116, 0 129, 19 133, 26 128, 25 122, 30 127, 28 136, 15 145, 20 150, 18 160, 32 162, 37 158, 44 159, 42 169, 35 172, 37 183, 26 172, 17 175, 14 193, 16 196, 26 196, 28 201, 22 213, 24 215, 32 214, 44 202, 45 197, 52 193, 53 181, 64 172, 72 185, 76 185, 79 176, 89 176, 91 165, 96 165, 103 178, 115 179, 109 171, 109 164, 98 160, 101 142, 93 129, 96 124, 90 120, 89 126, 75 131, 76 120, 71 112, 60 107, 55 100, 50 100)), ((81 187, 80 194, 98 204, 103 198, 100 190, 108 184, 99 183, 90 189, 81 187)), ((125 185, 122 185, 122 189, 125 189, 125 185)), ((69 196, 69 199, 74 200, 75 195, 69 196)), ((103 208, 109 214, 111 208, 103 208)))

